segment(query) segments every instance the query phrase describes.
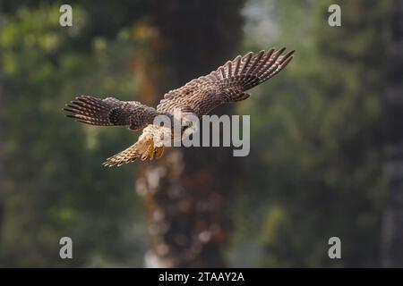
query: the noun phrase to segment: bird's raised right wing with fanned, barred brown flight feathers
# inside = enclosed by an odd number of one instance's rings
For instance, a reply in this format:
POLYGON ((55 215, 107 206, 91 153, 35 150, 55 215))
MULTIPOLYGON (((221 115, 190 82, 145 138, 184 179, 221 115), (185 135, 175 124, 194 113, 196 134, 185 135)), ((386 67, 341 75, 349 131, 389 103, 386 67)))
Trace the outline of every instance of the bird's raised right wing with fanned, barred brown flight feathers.
POLYGON ((189 81, 184 87, 169 91, 157 106, 159 112, 173 113, 175 108, 201 116, 228 102, 249 97, 244 93, 269 80, 284 69, 294 51, 284 55, 286 48, 270 49, 257 54, 238 55, 216 71, 189 81))

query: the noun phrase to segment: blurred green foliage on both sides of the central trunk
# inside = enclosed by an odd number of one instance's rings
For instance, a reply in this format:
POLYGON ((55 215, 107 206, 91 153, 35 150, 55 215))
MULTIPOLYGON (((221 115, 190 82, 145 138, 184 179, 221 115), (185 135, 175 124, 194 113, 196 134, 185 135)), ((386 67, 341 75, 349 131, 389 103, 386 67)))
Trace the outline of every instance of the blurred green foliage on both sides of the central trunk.
MULTIPOLYGON (((332 28, 327 7, 334 2, 271 2, 279 30, 270 43, 296 49, 296 57, 237 106, 251 114, 252 146, 250 156, 234 158, 242 172, 228 198, 232 265, 380 263, 388 64, 382 54, 390 3, 336 1, 342 27, 332 28), (327 256, 332 236, 342 240, 341 260, 327 256)), ((141 266, 147 244, 133 187, 136 164, 100 165, 131 144, 133 133, 74 124, 61 108, 80 94, 136 97, 130 64, 147 41, 133 35, 133 24, 147 20, 150 5, 110 4, 120 15, 114 20, 109 2, 73 2, 73 28, 64 29, 58 5, 21 3, 10 4, 0 33, 6 127, 0 265, 141 266), (58 257, 62 236, 73 239, 73 260, 58 257)), ((242 53, 268 48, 253 33, 245 32, 243 42, 242 53)))

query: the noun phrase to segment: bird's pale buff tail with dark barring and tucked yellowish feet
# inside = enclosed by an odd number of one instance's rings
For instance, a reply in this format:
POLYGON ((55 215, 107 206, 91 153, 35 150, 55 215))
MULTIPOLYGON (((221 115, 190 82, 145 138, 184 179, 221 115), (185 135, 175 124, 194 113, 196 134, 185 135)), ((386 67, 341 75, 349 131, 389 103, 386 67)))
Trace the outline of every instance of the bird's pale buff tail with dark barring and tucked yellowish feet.
POLYGON ((154 139, 151 133, 143 133, 139 140, 131 147, 126 148, 122 152, 107 158, 107 161, 103 163, 104 166, 120 166, 133 162, 137 158, 141 158, 141 161, 150 160, 156 158, 159 159, 164 153, 164 145, 160 147, 154 144, 154 139))

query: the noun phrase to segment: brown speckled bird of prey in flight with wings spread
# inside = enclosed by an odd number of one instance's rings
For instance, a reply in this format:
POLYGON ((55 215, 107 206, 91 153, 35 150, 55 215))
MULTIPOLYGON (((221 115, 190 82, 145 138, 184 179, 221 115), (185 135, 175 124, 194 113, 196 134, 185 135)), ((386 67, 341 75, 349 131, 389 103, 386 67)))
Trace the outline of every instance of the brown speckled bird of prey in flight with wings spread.
MULTIPOLYGON (((245 91, 269 80, 284 69, 295 51, 285 53, 286 48, 274 48, 259 53, 238 55, 216 71, 186 83, 182 88, 170 90, 157 108, 142 105, 138 101, 120 101, 114 97, 76 97, 64 108, 78 122, 99 126, 128 126, 131 130, 143 128, 141 136, 131 147, 107 158, 106 166, 120 166, 141 158, 159 158, 164 152, 164 139, 172 138, 171 129, 153 124, 158 115, 172 118, 180 108, 183 116, 193 114, 201 117, 213 108, 225 103, 244 100, 250 95, 245 91)), ((191 127, 185 123, 184 132, 191 127)))

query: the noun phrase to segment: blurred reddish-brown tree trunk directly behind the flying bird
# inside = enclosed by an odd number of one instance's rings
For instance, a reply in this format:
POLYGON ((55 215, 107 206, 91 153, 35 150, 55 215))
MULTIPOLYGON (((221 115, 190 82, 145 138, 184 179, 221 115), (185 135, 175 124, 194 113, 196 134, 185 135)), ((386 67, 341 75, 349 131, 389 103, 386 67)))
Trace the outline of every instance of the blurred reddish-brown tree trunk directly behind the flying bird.
MULTIPOLYGON (((243 1, 172 1, 152 9, 150 45, 134 63, 142 101, 156 104, 169 89, 234 56, 243 1)), ((229 112, 230 106, 214 113, 229 112)), ((141 163, 137 190, 149 219, 146 266, 225 266, 227 201, 233 189, 229 148, 170 148, 159 164, 141 163)))

